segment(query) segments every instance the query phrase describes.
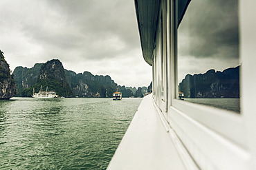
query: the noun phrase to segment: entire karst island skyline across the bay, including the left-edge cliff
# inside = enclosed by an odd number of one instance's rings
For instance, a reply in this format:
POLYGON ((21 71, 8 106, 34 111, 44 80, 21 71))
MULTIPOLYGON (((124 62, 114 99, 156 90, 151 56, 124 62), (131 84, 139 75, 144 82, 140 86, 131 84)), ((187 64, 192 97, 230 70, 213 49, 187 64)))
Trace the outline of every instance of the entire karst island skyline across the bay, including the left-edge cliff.
POLYGON ((13 96, 31 97, 34 92, 48 89, 58 96, 76 98, 111 98, 117 90, 122 97, 142 98, 146 92, 152 91, 149 87, 125 87, 118 85, 110 76, 93 75, 91 72, 76 74, 64 69, 58 59, 46 63, 36 63, 34 67, 16 67, 10 74, 8 63, 1 52, 0 88, 1 99, 13 96))

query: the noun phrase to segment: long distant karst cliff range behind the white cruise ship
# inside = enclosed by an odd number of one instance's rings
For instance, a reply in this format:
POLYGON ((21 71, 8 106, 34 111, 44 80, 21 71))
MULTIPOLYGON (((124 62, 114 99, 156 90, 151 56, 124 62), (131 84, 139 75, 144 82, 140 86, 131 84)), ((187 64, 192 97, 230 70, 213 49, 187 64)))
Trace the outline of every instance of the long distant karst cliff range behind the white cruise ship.
POLYGON ((59 60, 37 63, 32 68, 16 67, 13 75, 17 82, 17 96, 31 96, 33 88, 38 92, 40 85, 43 90, 48 86, 48 90, 53 90, 61 96, 72 97, 112 97, 116 89, 122 92, 123 97, 138 97, 143 96, 147 89, 143 87, 137 92, 136 87, 117 85, 108 75, 98 76, 91 72, 76 74, 65 70, 59 60))

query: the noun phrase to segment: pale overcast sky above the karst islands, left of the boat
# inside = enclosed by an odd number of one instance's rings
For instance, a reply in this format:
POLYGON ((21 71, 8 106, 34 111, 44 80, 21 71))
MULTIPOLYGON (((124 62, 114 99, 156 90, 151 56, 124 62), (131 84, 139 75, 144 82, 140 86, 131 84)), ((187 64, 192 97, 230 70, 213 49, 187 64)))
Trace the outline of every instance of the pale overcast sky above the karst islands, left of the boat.
POLYGON ((13 71, 60 59, 66 70, 148 86, 133 0, 1 0, 0 50, 13 71))

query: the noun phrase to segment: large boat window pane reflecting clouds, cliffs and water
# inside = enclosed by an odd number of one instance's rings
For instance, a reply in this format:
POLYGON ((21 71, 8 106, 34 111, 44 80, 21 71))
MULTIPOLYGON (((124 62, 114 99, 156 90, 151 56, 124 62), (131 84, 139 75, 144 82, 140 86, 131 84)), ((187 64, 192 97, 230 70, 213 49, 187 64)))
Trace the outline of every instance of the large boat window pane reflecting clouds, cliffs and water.
POLYGON ((239 112, 237 0, 193 0, 178 28, 176 98, 239 112))

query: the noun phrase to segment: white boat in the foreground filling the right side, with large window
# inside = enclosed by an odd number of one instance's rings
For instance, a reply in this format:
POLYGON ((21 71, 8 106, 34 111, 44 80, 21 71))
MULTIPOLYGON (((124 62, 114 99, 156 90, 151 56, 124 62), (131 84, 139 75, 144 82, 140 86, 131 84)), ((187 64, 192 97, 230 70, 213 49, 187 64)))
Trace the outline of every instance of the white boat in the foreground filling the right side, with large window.
MULTIPOLYGON (((107 169, 256 169, 256 1, 134 3, 143 58, 152 66, 153 92, 140 103, 107 169), (191 32, 180 34, 182 30, 191 32), (203 36, 196 39, 199 33, 203 36), (179 100, 180 68, 201 69, 228 48, 239 59, 241 110, 179 100), (188 61, 207 58, 187 67, 179 63, 181 53, 188 61)), ((217 65, 230 62, 226 52, 217 65)))

